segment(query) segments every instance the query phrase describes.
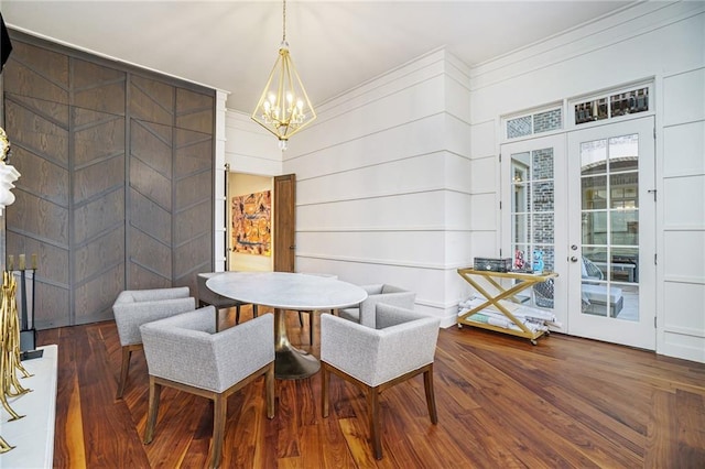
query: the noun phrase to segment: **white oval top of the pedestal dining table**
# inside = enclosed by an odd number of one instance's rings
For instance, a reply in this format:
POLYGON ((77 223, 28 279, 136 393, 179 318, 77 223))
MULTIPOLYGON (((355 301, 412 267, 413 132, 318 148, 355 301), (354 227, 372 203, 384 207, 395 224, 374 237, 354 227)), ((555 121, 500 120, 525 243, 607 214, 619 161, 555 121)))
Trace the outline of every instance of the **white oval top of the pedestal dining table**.
POLYGON ((367 298, 367 292, 351 283, 303 273, 224 272, 214 275, 206 285, 242 303, 281 309, 337 309, 367 298))

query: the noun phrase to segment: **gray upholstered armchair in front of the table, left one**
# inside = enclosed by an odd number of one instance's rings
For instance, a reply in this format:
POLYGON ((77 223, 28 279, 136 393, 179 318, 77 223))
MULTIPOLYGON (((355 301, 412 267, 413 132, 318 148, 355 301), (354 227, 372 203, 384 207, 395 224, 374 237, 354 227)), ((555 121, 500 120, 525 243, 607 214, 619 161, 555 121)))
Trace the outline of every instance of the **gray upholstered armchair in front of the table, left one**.
POLYGON ((274 417, 274 316, 215 332, 215 313, 206 306, 140 327, 150 373, 144 443, 154 437, 162 386, 209 399, 214 418, 208 467, 220 463, 228 396, 264 375, 267 416, 274 417))

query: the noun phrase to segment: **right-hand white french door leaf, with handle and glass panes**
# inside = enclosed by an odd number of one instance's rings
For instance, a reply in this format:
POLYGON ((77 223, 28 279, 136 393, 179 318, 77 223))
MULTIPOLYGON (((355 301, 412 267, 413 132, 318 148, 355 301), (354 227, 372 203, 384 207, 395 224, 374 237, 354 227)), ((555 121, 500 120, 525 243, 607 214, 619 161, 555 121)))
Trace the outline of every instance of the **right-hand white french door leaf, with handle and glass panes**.
POLYGON ((568 133, 568 331, 655 349, 653 118, 568 133), (577 307, 579 305, 579 307, 577 307))

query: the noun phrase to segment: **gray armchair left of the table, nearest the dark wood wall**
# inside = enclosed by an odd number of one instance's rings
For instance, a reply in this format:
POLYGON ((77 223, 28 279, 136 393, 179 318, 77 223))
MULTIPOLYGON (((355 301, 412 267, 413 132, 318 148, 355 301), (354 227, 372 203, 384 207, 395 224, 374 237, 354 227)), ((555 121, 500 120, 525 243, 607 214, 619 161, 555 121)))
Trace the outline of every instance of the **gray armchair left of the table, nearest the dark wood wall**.
POLYGON ((175 314, 194 310, 196 301, 189 296, 187 286, 173 288, 126 290, 112 305, 112 315, 122 346, 122 364, 117 399, 122 397, 130 371, 132 352, 142 349, 140 326, 175 314))

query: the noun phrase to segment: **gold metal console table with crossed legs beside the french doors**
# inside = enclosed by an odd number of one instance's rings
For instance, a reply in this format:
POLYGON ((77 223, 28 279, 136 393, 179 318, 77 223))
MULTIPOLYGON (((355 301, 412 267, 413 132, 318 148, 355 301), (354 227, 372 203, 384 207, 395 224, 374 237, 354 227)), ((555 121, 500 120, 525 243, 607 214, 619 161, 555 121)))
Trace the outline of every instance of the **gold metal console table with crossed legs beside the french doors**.
POLYGON ((512 336, 519 336, 527 338, 536 345, 536 339, 543 334, 544 330, 532 331, 521 320, 511 313, 507 307, 507 303, 502 301, 509 301, 511 303, 521 304, 521 299, 517 296, 518 293, 531 288, 536 283, 545 282, 549 279, 554 279, 558 274, 554 272, 544 272, 542 274, 522 273, 522 272, 490 272, 490 271, 477 271, 475 269, 458 269, 458 274, 469 283, 473 288, 482 295, 486 301, 473 308, 467 313, 458 315, 457 324, 458 328, 463 325, 479 327, 482 329, 490 329, 497 332, 510 334, 512 336), (511 282, 509 282, 511 281, 511 282), (505 286, 505 283, 511 283, 511 285, 505 286), (497 312, 505 315, 511 320, 519 329, 509 329, 505 327, 495 326, 486 323, 478 323, 469 319, 476 313, 480 313, 485 308, 494 307, 497 312))

